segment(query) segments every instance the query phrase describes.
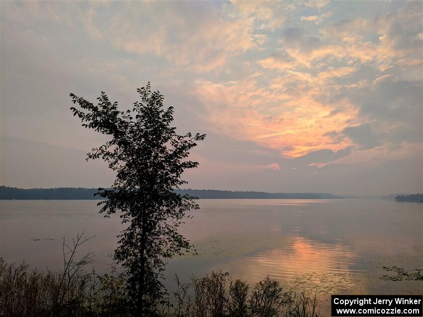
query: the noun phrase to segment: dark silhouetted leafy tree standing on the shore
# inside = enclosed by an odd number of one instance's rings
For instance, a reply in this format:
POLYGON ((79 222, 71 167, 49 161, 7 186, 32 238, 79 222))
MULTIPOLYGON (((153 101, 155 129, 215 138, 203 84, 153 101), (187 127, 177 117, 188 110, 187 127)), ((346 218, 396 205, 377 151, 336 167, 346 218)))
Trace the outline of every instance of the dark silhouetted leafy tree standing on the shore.
POLYGON ((99 188, 100 213, 120 213, 126 229, 118 236, 114 259, 128 274, 129 294, 140 316, 152 316, 166 291, 161 283, 165 259, 193 250, 178 233, 186 212, 199 209, 196 197, 177 194, 186 184, 181 174, 196 168, 188 159, 190 150, 205 134, 178 135, 172 127, 173 107, 163 106, 163 95, 151 92, 150 82, 137 89, 140 101, 132 110, 119 111, 105 92, 98 104, 70 94, 71 107, 85 128, 110 136, 109 141, 88 153, 87 159, 102 158, 116 172, 111 188, 99 188))

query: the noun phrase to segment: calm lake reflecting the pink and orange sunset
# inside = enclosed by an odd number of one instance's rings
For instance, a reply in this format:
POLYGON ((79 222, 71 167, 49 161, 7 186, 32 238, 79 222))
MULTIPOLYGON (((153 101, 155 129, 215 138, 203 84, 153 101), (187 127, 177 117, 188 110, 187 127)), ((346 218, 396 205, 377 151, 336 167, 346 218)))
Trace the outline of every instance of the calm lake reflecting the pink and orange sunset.
MULTIPOLYGON (((267 275, 287 288, 317 293, 328 313, 330 294, 423 294, 422 281, 389 281, 383 266, 422 268, 422 204, 390 200, 202 199, 181 233, 198 256, 168 261, 165 285, 174 276, 211 271, 255 283, 267 275), (328 301, 326 301, 328 300, 328 301)), ((118 216, 98 214, 94 200, 0 201, 0 256, 31 267, 63 265, 63 237, 86 230, 94 238, 78 254, 107 254, 121 230, 118 216)))

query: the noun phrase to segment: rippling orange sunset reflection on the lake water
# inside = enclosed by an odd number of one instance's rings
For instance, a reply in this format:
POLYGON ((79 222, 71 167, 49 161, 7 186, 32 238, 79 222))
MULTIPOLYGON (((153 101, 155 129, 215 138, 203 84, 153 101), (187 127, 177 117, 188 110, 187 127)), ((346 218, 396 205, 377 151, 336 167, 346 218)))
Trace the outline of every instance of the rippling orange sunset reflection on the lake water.
MULTIPOLYGON (((251 240, 248 242, 254 243, 251 240)), ((363 272, 362 269, 356 268, 359 259, 351 246, 322 243, 302 236, 290 236, 284 242, 280 246, 262 247, 255 252, 224 257, 223 263, 216 254, 215 258, 209 259, 206 271, 222 269, 250 283, 256 283, 269 276, 291 284, 307 274, 314 274, 314 282, 323 283, 324 279, 319 278, 324 275, 331 275, 333 279, 339 274, 350 276, 352 273, 363 272)), ((242 248, 243 246, 239 245, 239 249, 242 248)), ((197 275, 198 267, 205 269, 202 253, 198 259, 178 259, 171 262, 171 266, 184 277, 191 273, 197 275)))

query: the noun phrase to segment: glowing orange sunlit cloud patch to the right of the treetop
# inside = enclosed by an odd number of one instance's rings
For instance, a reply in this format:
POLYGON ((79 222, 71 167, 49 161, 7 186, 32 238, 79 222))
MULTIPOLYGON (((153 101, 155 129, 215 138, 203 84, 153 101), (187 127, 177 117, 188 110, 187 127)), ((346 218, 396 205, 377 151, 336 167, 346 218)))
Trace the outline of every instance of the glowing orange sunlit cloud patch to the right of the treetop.
POLYGON ((333 143, 327 134, 339 131, 356 116, 345 101, 343 111, 332 113, 334 106, 323 105, 314 96, 320 88, 311 88, 297 75, 274 80, 262 87, 256 80, 216 84, 197 82, 197 93, 208 106, 207 121, 217 133, 253 141, 280 150, 285 157, 299 157, 322 148, 333 151, 351 145, 348 140, 333 143))

